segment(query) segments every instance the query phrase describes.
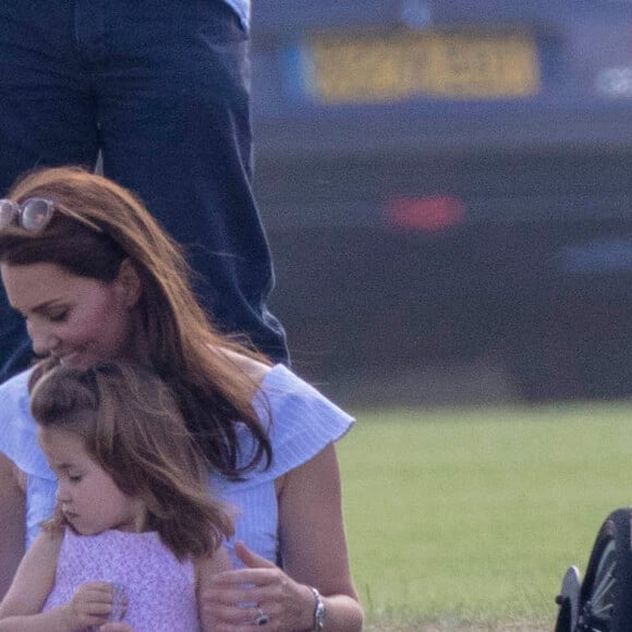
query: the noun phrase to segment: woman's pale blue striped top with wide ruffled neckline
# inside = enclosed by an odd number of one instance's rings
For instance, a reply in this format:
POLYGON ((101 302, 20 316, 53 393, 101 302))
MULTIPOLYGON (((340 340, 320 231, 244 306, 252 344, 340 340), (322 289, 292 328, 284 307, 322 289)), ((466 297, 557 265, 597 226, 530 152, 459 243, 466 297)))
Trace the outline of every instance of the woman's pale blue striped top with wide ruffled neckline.
MULTIPOLYGON (((26 475, 27 546, 54 507, 56 477, 36 440, 37 425, 31 416, 28 372, 0 386, 0 452, 26 475)), ((212 475, 211 488, 238 511, 235 539, 256 554, 276 561, 278 506, 275 479, 305 463, 352 426, 353 418, 312 386, 279 364, 264 377, 254 400, 269 432, 272 463, 259 465, 243 482, 212 475)), ((252 454, 253 440, 245 426, 238 428, 242 458, 252 454)), ((232 542, 228 543, 233 563, 232 542)))

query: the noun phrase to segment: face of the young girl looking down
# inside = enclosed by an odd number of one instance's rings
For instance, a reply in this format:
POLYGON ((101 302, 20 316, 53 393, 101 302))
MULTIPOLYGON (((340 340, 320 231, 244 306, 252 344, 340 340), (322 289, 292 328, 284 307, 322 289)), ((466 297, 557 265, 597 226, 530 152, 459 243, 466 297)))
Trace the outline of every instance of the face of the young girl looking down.
POLYGON ((39 427, 37 440, 58 478, 58 505, 77 533, 144 531, 145 505, 117 487, 112 477, 88 455, 81 437, 59 428, 39 427))

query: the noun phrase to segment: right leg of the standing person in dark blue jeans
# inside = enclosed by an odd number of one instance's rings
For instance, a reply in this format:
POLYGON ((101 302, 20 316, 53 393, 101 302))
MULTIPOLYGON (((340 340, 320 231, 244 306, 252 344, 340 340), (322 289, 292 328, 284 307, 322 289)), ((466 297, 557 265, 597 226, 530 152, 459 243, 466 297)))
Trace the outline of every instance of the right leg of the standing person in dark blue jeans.
POLYGON ((247 34, 220 0, 104 8, 94 16, 105 25, 106 54, 95 65, 104 173, 187 247, 218 326, 288 362, 283 329, 265 304, 272 272, 251 189, 247 34))

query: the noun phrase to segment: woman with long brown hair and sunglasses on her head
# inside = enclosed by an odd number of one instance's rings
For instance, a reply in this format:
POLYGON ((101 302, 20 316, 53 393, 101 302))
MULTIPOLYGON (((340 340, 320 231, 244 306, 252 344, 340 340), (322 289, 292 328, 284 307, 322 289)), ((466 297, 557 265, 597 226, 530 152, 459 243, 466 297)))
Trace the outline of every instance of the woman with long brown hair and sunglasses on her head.
MULTIPOLYGON (((214 330, 180 250, 129 191, 72 168, 27 175, 0 202, 0 270, 42 357, 34 370, 122 358, 173 389, 211 486, 239 511, 239 568, 203 597, 218 631, 362 628, 333 447, 352 420, 214 330)), ((0 387, 2 591, 54 503, 28 378, 0 387)))

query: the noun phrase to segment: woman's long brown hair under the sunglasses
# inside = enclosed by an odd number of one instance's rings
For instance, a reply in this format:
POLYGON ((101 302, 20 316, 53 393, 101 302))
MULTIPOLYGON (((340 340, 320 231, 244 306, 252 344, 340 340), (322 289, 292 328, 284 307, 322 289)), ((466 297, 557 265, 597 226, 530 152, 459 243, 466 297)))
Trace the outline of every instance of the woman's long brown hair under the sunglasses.
MULTIPOLYGON (((52 263, 69 272, 112 282, 129 259, 143 288, 139 311, 153 369, 173 390, 182 416, 210 466, 231 478, 265 460, 271 446, 253 396, 257 388, 235 363, 231 350, 269 364, 243 340, 220 335, 195 300, 191 269, 182 248, 126 189, 81 168, 41 169, 17 181, 9 197, 22 203, 44 197, 97 224, 97 232, 56 212, 40 232, 17 226, 0 231, 0 262, 52 263), (254 437, 254 449, 240 452, 236 422, 254 437)), ((173 209, 186 221, 186 209, 173 209)), ((54 364, 46 358, 38 377, 54 364)))

